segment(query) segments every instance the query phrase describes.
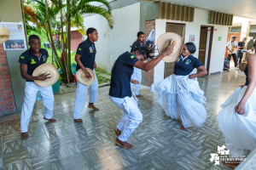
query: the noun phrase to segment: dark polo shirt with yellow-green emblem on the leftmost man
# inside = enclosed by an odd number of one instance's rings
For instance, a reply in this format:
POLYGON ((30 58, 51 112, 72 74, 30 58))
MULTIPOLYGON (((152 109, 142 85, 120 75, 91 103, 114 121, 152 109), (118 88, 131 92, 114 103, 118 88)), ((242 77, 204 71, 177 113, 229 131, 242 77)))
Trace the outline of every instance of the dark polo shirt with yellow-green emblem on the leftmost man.
MULTIPOLYGON (((49 57, 46 49, 40 49, 40 57, 33 54, 31 49, 26 50, 20 55, 19 62, 27 65, 27 74, 32 75, 33 71, 39 66, 43 65, 49 57)), ((26 82, 33 82, 33 80, 26 80, 26 82)))

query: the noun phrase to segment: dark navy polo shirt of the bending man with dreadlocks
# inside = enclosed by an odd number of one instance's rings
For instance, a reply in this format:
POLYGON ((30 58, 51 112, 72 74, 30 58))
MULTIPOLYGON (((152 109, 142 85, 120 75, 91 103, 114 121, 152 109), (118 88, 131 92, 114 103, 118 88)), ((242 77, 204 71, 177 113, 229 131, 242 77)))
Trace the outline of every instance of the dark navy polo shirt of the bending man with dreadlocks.
POLYGON ((115 98, 131 97, 131 75, 138 59, 128 51, 115 60, 112 67, 109 95, 115 98))

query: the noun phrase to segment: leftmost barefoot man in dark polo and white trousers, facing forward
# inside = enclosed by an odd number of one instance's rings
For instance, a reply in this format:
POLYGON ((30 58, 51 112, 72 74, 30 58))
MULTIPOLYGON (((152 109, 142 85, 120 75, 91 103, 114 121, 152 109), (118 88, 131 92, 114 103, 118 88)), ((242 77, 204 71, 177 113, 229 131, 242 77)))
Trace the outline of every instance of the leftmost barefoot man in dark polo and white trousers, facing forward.
POLYGON ((49 78, 49 74, 42 74, 39 77, 33 77, 32 72, 39 66, 46 63, 48 52, 41 48, 40 38, 36 35, 31 35, 28 40, 30 49, 20 55, 20 74, 26 80, 24 103, 21 110, 20 130, 21 138, 28 139, 27 127, 32 115, 33 107, 37 99, 37 93, 40 92, 45 107, 44 119, 49 122, 56 122, 53 116, 54 94, 52 87, 43 88, 38 86, 34 80, 44 81, 49 78))

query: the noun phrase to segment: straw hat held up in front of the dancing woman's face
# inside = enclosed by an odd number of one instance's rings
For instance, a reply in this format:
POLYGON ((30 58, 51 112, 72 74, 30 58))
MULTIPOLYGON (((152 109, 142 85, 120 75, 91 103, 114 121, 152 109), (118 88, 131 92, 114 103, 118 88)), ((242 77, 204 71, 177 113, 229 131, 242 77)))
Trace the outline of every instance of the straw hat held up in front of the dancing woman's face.
POLYGON ((170 44, 174 44, 172 54, 166 55, 166 57, 162 59, 167 63, 174 62, 181 54, 181 49, 183 48, 183 38, 172 32, 162 34, 157 39, 157 48, 159 54, 163 53, 170 44))

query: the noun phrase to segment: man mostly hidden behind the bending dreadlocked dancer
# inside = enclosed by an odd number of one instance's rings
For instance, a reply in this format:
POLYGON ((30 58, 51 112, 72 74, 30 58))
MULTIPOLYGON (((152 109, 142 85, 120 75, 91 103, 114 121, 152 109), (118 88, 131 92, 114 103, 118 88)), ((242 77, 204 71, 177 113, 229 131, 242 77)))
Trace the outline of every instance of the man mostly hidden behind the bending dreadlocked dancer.
MULTIPOLYGON (((135 52, 136 48, 138 46, 140 46, 143 42, 144 42, 144 32, 143 31, 139 31, 137 32, 137 40, 135 42, 133 42, 132 46, 131 46, 131 53, 135 52)), ((133 74, 131 76, 131 91, 133 88, 133 84, 135 84, 135 88, 133 90, 133 93, 137 96, 137 97, 143 97, 142 94, 139 94, 140 88, 141 88, 141 82, 142 82, 142 70, 133 67, 134 71, 133 74)))

